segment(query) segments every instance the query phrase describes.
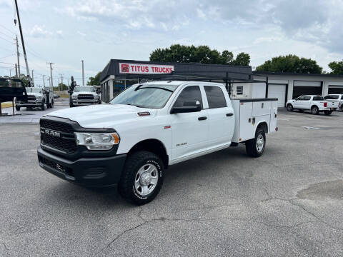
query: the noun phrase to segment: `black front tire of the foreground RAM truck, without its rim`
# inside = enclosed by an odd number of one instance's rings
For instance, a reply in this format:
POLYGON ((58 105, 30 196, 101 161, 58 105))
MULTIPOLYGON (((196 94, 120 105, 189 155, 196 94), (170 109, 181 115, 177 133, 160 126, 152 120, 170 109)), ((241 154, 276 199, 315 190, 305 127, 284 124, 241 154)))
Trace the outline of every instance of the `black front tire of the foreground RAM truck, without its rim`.
POLYGON ((132 153, 127 157, 124 171, 121 174, 121 178, 118 185, 119 194, 125 198, 127 201, 134 203, 136 205, 143 205, 154 200, 159 191, 161 190, 164 178, 164 166, 161 158, 156 156, 156 154, 149 151, 137 151, 132 153), (154 165, 157 170, 158 180, 153 191, 147 195, 141 195, 139 191, 135 188, 135 180, 137 172, 144 165, 154 165))

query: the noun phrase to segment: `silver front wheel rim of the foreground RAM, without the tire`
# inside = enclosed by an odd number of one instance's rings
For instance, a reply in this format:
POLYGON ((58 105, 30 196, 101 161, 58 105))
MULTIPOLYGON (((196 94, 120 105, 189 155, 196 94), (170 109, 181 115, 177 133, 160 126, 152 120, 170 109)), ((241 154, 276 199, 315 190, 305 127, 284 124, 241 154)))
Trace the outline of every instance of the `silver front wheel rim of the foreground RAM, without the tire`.
POLYGON ((159 171, 154 164, 144 164, 134 177, 134 188, 141 196, 146 196, 156 188, 159 181, 159 171))

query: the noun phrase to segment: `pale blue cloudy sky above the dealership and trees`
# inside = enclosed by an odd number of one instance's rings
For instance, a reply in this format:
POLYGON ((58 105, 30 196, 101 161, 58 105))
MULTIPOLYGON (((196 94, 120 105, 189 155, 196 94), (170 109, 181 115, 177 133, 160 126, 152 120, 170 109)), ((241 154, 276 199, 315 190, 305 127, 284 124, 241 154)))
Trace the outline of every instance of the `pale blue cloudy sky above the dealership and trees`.
MULTIPOLYGON (((343 0, 18 0, 24 44, 35 84, 63 76, 81 84, 110 59, 149 60, 172 44, 207 45, 254 68, 274 56, 296 54, 327 64, 343 59, 343 0)), ((16 63, 14 1, 0 0, 0 76, 16 63)), ((19 39, 20 41, 20 39, 19 39)), ((21 73, 26 74, 23 51, 21 73)), ((15 70, 11 69, 11 74, 15 70)), ((86 83, 86 82, 85 82, 86 83)))

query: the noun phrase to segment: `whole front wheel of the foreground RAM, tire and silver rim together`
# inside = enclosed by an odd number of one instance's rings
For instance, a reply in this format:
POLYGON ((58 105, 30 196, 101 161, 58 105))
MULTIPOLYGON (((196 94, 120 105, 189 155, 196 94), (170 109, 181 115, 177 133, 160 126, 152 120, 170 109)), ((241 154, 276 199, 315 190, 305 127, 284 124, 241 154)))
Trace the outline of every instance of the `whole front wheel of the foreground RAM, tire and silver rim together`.
POLYGON ((163 184, 163 163, 149 151, 138 151, 126 160, 119 181, 119 193, 127 201, 142 205, 152 201, 163 184))

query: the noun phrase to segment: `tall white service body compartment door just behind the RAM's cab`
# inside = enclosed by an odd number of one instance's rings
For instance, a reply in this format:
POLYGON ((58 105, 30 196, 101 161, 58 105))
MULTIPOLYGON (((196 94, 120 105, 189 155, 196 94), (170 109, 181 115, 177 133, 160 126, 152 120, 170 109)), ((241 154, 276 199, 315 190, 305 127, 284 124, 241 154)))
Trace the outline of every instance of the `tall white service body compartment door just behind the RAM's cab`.
POLYGON ((239 104, 239 142, 252 139, 254 136, 254 126, 252 125, 252 102, 241 101, 239 104))

